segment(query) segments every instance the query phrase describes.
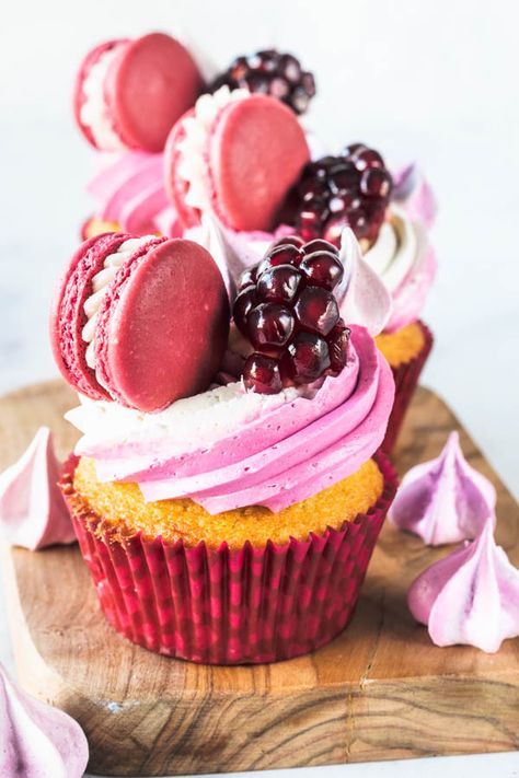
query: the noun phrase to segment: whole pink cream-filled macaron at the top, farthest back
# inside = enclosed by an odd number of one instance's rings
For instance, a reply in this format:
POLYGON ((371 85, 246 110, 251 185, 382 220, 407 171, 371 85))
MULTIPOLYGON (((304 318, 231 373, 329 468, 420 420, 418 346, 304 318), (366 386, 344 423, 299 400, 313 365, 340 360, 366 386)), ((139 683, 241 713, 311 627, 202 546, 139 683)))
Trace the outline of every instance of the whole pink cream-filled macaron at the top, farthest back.
POLYGON ((108 40, 81 63, 76 120, 86 140, 103 151, 162 151, 169 131, 201 88, 193 57, 170 35, 108 40))

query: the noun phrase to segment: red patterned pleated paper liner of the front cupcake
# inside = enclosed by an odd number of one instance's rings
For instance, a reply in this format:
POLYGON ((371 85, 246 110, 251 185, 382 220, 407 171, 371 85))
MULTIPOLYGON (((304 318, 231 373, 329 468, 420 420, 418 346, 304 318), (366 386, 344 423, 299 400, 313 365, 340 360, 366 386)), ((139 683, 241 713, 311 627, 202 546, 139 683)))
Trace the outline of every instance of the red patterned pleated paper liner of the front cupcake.
POLYGON ((350 619, 396 490, 383 454, 377 503, 341 530, 307 542, 240 549, 141 534, 115 538, 73 489, 77 458, 62 479, 81 553, 112 626, 150 651, 207 664, 276 662, 330 642, 350 619))

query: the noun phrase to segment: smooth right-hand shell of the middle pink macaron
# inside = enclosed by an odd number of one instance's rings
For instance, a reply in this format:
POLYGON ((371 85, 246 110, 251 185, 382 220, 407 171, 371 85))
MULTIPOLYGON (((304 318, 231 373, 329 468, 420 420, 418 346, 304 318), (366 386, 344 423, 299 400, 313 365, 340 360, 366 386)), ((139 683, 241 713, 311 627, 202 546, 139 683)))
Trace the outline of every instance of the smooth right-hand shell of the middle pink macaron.
POLYGON ((310 150, 292 111, 255 94, 222 108, 208 160, 212 206, 221 221, 233 230, 270 230, 310 150))

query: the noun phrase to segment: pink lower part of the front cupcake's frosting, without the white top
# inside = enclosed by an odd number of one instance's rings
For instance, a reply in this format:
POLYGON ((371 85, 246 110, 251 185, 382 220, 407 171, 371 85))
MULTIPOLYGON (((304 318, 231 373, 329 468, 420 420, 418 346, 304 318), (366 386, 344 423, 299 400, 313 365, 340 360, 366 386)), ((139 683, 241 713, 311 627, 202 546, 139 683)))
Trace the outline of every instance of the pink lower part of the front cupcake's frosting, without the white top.
MULTIPOLYGON (((244 392, 244 390, 243 390, 244 392)), ((296 396, 232 433, 193 440, 80 441, 101 480, 137 481, 147 501, 189 497, 209 513, 261 504, 277 512, 355 473, 381 444, 393 404, 391 370, 364 327, 348 364, 312 397, 296 396)))

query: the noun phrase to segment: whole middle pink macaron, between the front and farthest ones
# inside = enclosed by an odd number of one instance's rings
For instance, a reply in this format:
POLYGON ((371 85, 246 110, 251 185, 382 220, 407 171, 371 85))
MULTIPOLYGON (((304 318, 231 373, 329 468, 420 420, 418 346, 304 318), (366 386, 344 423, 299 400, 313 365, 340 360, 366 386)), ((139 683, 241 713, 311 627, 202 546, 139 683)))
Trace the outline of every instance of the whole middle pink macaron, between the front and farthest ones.
POLYGON ((232 230, 270 230, 309 160, 303 129, 280 101, 261 94, 237 98, 232 92, 203 95, 170 132, 165 185, 186 228, 211 210, 232 230), (217 109, 207 103, 215 98, 217 109))

